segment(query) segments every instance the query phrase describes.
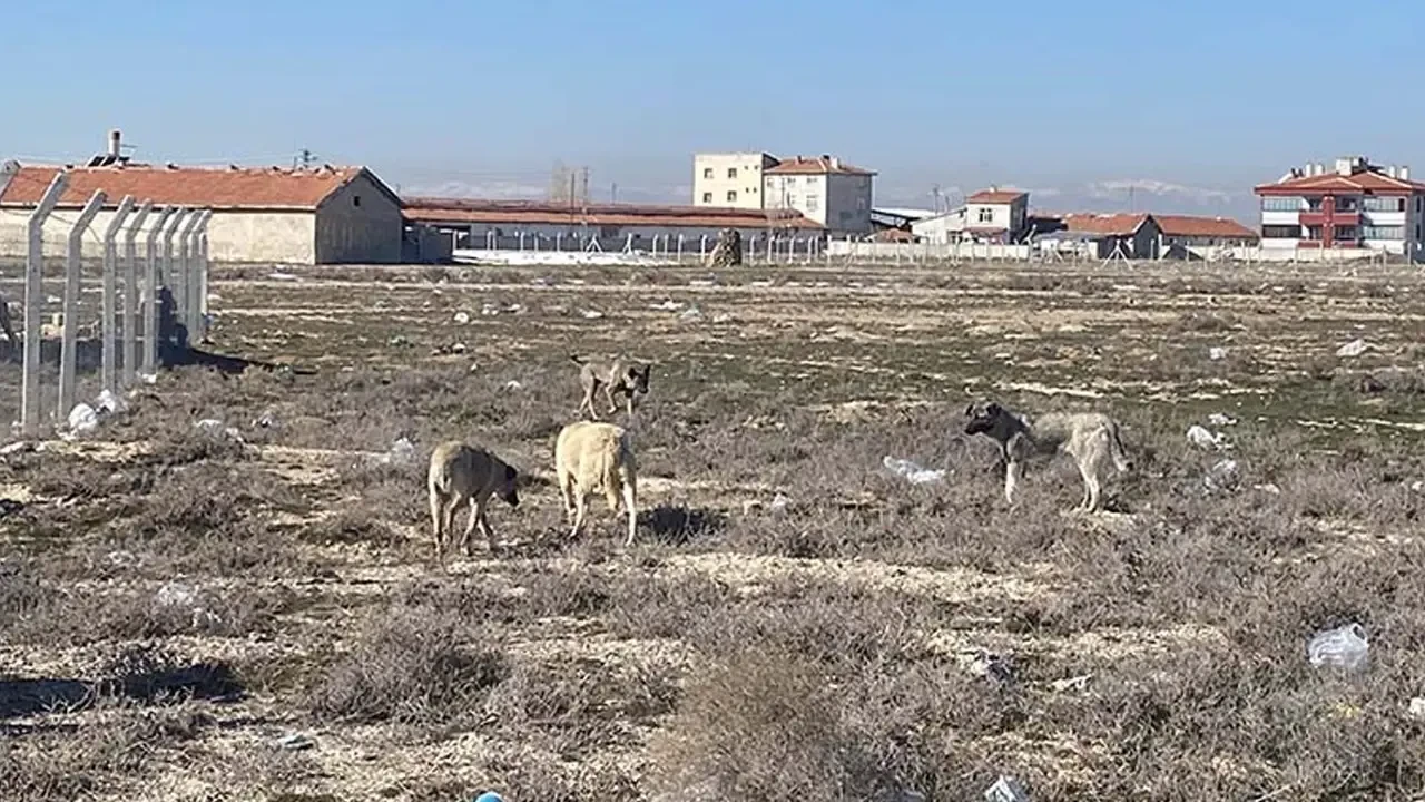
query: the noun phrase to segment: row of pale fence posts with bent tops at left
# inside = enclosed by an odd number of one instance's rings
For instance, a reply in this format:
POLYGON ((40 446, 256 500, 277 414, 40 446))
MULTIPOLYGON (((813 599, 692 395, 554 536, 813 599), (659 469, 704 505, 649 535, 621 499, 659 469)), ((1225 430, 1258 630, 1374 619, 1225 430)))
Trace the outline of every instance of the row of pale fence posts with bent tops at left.
MULTIPOLYGON (((51 218, 66 188, 68 173, 54 176, 48 188, 30 213, 27 227, 27 254, 24 265, 24 355, 20 384, 20 420, 26 437, 40 432, 40 362, 43 347, 44 317, 44 224, 51 218)), ((83 283, 81 255, 84 238, 90 235, 94 218, 108 203, 104 191, 95 191, 88 203, 71 221, 64 260, 64 314, 60 337, 60 387, 58 420, 76 405, 78 395, 78 331, 80 298, 83 283)), ((158 364, 158 290, 167 287, 174 300, 174 321, 185 325, 191 340, 205 334, 208 260, 205 227, 211 218, 209 210, 164 208, 152 214, 152 204, 142 201, 135 205, 125 196, 117 204, 113 217, 98 235, 103 243, 103 288, 100 311, 101 364, 100 385, 111 394, 135 384, 142 374, 152 374, 158 364), (134 213, 137 207, 137 214, 134 213), (148 223, 147 281, 138 280, 138 234, 148 223), (175 254, 174 235, 180 234, 175 254), (124 235, 123 251, 123 307, 118 308, 120 251, 118 237, 124 235), (174 257, 177 255, 177 264, 174 257), (140 314, 142 315, 142 350, 140 351, 140 314)))

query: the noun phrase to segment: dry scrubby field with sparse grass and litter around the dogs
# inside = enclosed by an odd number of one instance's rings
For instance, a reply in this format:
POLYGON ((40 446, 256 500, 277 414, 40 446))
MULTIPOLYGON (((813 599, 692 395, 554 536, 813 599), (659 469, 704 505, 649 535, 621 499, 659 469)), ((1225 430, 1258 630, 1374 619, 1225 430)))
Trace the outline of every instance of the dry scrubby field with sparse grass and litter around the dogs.
POLYGON ((90 435, 4 455, 4 799, 1425 788, 1418 273, 271 273, 219 271, 211 347, 316 375, 167 371, 90 435), (573 352, 656 365, 616 418, 628 549, 601 498, 571 542, 550 481, 573 352), (1066 458, 1007 509, 993 445, 960 434, 972 395, 1119 415, 1137 468, 1110 512, 1067 512, 1066 458), (492 508, 499 554, 476 538, 442 572, 425 460, 449 437, 532 478, 492 508), (1312 668, 1307 639, 1349 621, 1368 668, 1312 668))

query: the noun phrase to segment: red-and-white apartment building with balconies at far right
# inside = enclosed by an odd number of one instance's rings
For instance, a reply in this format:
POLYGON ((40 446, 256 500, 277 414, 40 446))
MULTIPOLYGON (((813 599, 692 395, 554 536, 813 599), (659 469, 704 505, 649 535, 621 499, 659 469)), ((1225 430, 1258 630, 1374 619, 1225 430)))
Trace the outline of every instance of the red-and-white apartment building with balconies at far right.
POLYGON ((1254 191, 1261 198, 1261 245, 1425 251, 1425 184, 1409 167, 1381 167, 1364 156, 1294 167, 1254 191))

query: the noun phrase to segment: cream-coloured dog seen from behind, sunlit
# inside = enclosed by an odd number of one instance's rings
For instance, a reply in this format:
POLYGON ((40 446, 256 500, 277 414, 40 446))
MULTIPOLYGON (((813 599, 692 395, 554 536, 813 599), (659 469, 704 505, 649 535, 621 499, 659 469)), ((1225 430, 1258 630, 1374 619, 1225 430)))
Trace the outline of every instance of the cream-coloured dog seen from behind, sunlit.
POLYGON ((554 442, 554 472, 564 497, 564 514, 574 525, 570 538, 579 537, 584 525, 589 497, 603 491, 611 512, 618 512, 623 502, 628 515, 624 545, 633 545, 638 527, 638 464, 623 427, 597 421, 569 424, 554 442))

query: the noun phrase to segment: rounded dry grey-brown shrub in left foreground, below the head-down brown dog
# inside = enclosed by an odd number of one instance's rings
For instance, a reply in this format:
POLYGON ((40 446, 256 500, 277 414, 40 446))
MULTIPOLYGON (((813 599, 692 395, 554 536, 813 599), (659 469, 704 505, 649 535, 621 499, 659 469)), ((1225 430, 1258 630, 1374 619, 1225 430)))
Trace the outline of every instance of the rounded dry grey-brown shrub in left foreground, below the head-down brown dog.
POLYGON ((306 691, 305 706, 342 722, 469 724, 507 672, 504 652, 457 616, 395 608, 366 621, 306 691))

